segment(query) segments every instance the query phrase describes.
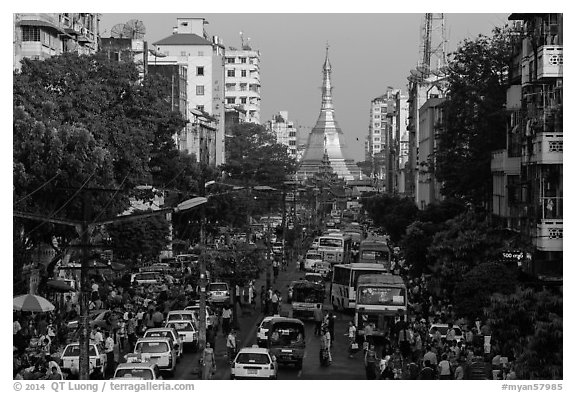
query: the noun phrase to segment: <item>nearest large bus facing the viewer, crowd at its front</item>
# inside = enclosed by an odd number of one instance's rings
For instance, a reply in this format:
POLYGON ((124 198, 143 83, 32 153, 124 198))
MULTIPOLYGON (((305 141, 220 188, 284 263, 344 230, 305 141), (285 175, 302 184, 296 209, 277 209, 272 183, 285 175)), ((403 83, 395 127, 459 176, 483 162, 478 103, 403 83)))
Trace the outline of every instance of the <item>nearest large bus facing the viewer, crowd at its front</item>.
POLYGON ((394 323, 408 320, 408 293, 402 277, 393 274, 365 274, 358 279, 354 322, 357 337, 373 324, 372 339, 381 344, 394 323))

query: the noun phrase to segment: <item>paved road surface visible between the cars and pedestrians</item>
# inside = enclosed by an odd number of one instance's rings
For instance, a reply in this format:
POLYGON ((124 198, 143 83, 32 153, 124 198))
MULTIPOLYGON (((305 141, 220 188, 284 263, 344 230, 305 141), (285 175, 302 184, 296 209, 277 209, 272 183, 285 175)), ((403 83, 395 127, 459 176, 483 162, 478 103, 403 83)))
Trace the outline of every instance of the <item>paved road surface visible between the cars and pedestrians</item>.
MULTIPOLYGON (((282 292, 282 297, 287 298, 287 287, 289 283, 295 279, 303 276, 302 272, 297 270, 293 263, 285 272, 280 272, 278 281, 274 284, 275 289, 282 292)), ((265 285, 265 275, 263 275, 256 282, 256 288, 259 289, 261 285, 265 285)), ((328 291, 328 285, 327 285, 328 291)), ((329 296, 326 296, 328 301, 329 296)), ((326 309, 331 309, 331 305, 325 303, 326 309)), ((282 305, 281 313, 289 315, 291 307, 289 304, 282 305)), ((244 315, 238 314, 238 323, 240 332, 238 334, 241 347, 251 346, 256 343, 256 329, 259 322, 263 318, 263 314, 256 310, 251 314, 245 313, 244 315)), ((304 363, 302 370, 296 370, 293 366, 280 366, 278 371, 278 379, 296 380, 296 379, 320 379, 320 380, 351 380, 351 379, 365 379, 363 359, 360 354, 355 358, 348 357, 348 339, 346 337, 348 322, 352 319, 352 315, 336 313, 335 323, 335 340, 332 349, 332 364, 328 367, 320 365, 319 351, 320 351, 320 338, 314 336, 314 323, 305 321, 306 325, 306 352, 304 355, 304 363)), ((200 354, 191 353, 189 350, 184 353, 183 358, 179 362, 176 373, 170 379, 198 379, 198 359, 200 354)), ((230 368, 228 366, 228 359, 226 357, 226 338, 220 332, 216 338, 216 375, 214 379, 222 380, 230 378, 230 368)))

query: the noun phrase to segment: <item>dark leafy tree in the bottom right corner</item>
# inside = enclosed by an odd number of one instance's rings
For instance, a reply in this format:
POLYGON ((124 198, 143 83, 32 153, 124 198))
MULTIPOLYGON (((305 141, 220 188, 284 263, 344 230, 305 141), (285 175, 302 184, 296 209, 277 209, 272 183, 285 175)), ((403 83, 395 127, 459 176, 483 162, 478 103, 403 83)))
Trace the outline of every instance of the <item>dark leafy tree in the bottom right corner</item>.
POLYGON ((562 295, 516 289, 495 294, 485 315, 503 355, 516 359, 519 379, 562 379, 562 295))

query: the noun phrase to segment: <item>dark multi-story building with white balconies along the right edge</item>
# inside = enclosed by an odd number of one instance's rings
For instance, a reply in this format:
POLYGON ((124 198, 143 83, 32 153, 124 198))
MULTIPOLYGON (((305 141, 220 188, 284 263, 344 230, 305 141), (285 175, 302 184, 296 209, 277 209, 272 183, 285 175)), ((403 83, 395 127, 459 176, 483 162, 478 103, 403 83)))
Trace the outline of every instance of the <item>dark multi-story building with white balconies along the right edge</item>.
POLYGON ((506 149, 492 153, 493 215, 519 231, 525 267, 561 278, 563 261, 563 15, 512 14, 506 149))

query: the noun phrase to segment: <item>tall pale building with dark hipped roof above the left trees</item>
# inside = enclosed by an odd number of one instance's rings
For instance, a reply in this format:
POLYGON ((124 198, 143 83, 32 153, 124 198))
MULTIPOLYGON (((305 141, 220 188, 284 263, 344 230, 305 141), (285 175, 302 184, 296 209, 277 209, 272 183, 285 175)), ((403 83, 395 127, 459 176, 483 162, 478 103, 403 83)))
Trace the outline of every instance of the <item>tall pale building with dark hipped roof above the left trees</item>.
POLYGON ((204 161, 217 166, 225 160, 224 46, 217 36, 209 39, 204 31, 206 23, 204 18, 177 18, 173 34, 153 43, 148 65, 186 66, 186 119, 191 126, 184 131, 190 135, 181 135, 180 140, 185 141, 186 150, 197 152, 199 160, 204 157, 204 161), (196 145, 201 143, 208 144, 207 150, 196 145), (206 158, 202 151, 214 157, 206 158))

